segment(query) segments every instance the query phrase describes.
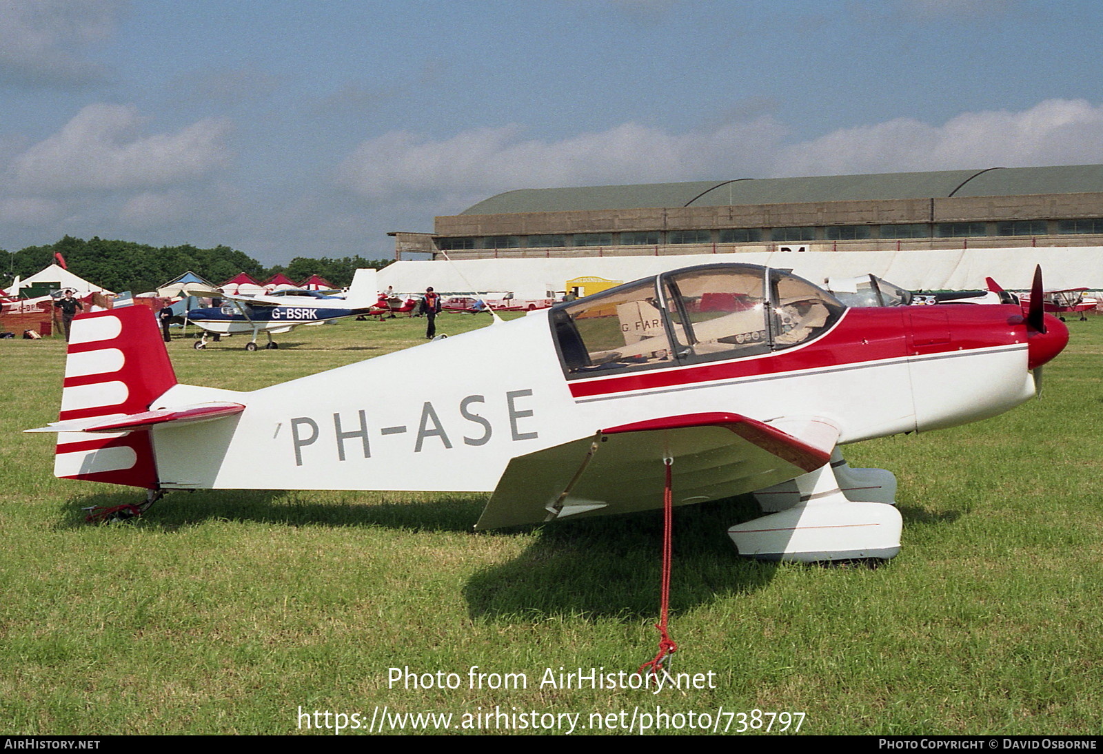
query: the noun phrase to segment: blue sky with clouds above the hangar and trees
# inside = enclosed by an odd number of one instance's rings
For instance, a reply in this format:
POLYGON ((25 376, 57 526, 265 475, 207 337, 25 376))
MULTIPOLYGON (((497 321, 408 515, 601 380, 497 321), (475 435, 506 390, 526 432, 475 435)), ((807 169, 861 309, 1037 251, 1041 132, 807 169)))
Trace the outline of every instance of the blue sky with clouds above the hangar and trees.
POLYGON ((1101 31, 1073 0, 0 0, 0 248, 379 258, 512 188, 1097 163, 1101 31))

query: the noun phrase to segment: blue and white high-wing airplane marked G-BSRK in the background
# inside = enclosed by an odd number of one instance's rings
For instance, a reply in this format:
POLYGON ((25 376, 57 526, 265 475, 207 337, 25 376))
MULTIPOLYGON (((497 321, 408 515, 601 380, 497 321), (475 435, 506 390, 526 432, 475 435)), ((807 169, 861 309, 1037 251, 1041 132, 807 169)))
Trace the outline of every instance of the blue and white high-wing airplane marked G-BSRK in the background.
POLYGON ((193 347, 207 346, 207 333, 235 335, 250 333, 246 351, 257 349, 257 335, 268 336, 266 348, 278 348, 272 334, 288 333, 300 325, 319 325, 346 316, 372 313, 375 308, 375 270, 360 269, 353 276, 346 297, 326 295, 318 291, 285 290, 260 295, 226 295, 222 306, 192 309, 188 322, 203 330, 203 337, 193 347))

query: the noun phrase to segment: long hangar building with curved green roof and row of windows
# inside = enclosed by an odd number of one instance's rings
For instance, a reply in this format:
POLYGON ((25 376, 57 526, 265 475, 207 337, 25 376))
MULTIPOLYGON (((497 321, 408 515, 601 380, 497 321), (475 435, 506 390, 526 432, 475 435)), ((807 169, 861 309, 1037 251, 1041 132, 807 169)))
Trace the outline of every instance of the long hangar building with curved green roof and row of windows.
POLYGON ((1103 165, 523 188, 390 235, 399 259, 1097 247, 1103 165))

